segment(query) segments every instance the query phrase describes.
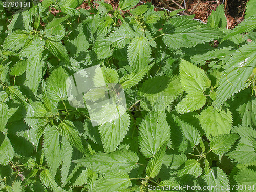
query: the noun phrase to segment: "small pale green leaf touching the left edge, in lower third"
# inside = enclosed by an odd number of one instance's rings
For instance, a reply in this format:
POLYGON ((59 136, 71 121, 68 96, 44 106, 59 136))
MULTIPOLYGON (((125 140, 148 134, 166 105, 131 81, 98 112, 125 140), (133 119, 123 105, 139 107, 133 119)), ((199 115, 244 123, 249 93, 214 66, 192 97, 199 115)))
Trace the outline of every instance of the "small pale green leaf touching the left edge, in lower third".
POLYGON ((8 165, 12 158, 14 157, 14 150, 12 144, 7 136, 5 136, 4 141, 0 146, 0 164, 8 165))

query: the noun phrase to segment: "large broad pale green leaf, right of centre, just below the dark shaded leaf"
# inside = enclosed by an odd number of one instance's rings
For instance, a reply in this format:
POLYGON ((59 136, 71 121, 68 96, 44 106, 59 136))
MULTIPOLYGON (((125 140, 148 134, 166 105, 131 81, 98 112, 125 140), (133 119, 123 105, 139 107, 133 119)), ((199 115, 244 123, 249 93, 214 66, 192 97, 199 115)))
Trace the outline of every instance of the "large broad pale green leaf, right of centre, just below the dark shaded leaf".
POLYGON ((145 157, 153 157, 170 138, 170 126, 163 106, 156 104, 139 126, 139 147, 145 157))

